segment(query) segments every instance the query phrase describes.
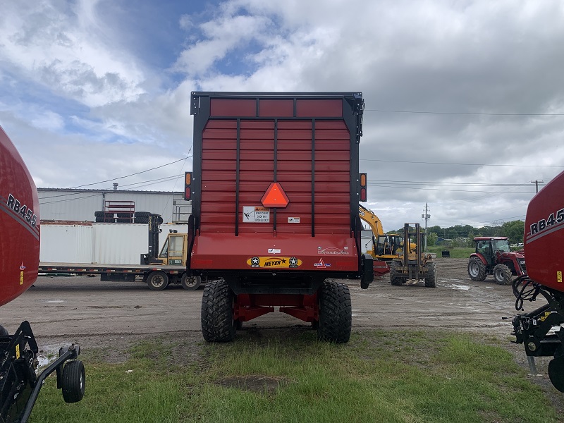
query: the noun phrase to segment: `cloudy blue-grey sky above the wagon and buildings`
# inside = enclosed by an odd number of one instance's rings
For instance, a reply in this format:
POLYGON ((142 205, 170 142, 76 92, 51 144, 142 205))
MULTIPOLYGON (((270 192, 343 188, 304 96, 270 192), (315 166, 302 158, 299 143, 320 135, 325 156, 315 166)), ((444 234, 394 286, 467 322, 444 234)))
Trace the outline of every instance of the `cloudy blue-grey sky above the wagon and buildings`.
POLYGON ((0 0, 0 125, 40 188, 181 190, 190 92, 361 91, 386 231, 524 219, 564 170, 564 2, 0 0))

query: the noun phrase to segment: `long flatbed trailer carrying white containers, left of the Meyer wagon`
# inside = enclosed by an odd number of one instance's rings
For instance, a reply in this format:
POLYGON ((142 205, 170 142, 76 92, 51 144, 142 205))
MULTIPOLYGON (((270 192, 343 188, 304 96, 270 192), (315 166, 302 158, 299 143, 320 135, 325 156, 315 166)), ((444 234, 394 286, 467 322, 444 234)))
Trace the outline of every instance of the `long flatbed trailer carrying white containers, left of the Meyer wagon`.
MULTIPOLYGON (((151 290, 163 290, 169 283, 188 285, 186 267, 161 264, 94 264, 39 262, 39 274, 100 275, 101 281, 135 281, 142 277, 151 290)), ((200 286, 200 283, 197 283, 200 286)))

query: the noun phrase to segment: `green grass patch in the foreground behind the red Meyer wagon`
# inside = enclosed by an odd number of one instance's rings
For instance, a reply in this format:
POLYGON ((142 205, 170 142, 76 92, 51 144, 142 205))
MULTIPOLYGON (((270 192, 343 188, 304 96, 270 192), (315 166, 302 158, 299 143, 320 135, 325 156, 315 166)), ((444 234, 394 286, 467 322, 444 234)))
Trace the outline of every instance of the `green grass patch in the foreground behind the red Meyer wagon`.
POLYGON ((83 357, 87 385, 65 404, 49 377, 30 422, 558 422, 541 389, 491 338, 435 331, 240 332, 181 357, 165 338, 124 364, 83 357), (127 372, 133 370, 133 372, 127 372))

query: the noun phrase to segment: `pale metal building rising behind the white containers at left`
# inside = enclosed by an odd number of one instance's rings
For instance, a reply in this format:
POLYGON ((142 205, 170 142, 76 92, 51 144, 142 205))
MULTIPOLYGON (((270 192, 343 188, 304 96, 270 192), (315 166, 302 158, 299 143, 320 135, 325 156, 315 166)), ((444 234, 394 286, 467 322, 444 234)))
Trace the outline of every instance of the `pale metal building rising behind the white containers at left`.
POLYGON ((120 203, 127 212, 160 214, 165 223, 186 223, 192 204, 183 192, 84 190, 37 188, 42 221, 96 221, 95 212, 108 211, 120 203))

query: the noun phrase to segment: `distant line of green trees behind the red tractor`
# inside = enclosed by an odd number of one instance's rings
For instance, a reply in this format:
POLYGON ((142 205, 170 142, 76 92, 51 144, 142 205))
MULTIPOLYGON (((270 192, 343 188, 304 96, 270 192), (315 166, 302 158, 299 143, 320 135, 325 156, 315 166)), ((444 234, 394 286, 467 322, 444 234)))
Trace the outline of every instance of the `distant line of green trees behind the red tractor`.
MULTIPOLYGON (((396 231, 401 233, 403 228, 396 231)), ((474 246, 472 239, 475 236, 506 236, 510 244, 523 242, 525 232, 524 221, 504 222, 496 226, 482 226, 474 228, 470 225, 455 225, 448 228, 441 226, 427 227, 427 245, 474 246)))

